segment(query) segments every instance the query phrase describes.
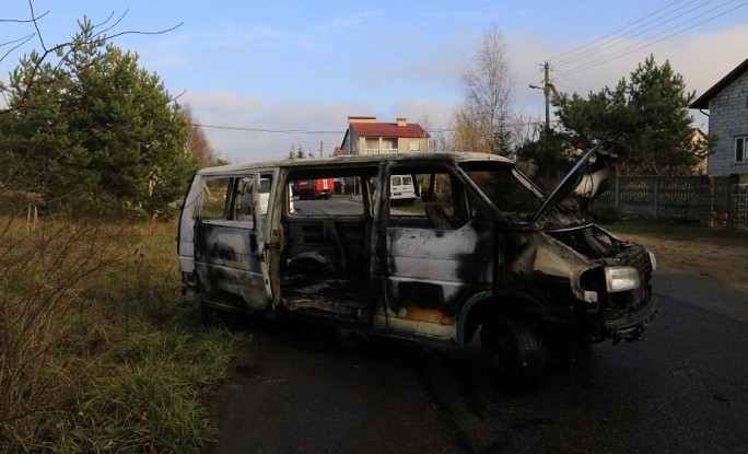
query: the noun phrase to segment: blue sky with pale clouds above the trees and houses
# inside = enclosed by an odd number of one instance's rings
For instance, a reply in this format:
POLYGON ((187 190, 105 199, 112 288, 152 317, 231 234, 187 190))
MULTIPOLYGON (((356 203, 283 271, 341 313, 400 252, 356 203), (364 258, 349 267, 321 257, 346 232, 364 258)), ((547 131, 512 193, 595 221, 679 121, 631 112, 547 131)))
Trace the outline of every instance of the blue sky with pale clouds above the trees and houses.
MULTIPOLYGON (((329 155, 349 116, 407 117, 448 129, 463 74, 482 34, 498 28, 514 78, 514 108, 542 120, 542 63, 561 92, 613 86, 653 55, 697 96, 748 58, 746 0, 26 0, 0 10, 0 80, 24 53, 68 40, 83 16, 138 53, 189 105, 218 155, 329 155), (124 15, 124 16, 122 16, 124 15), (117 19, 121 20, 115 24, 117 19), (108 19, 108 22, 107 22, 108 19), (178 26, 177 26, 178 25, 178 26), (4 57, 3 57, 4 56, 4 57), (211 127, 208 127, 211 126, 211 127), (238 129, 224 129, 238 128, 238 129), (242 129, 243 128, 243 129, 242 129)), ((706 130, 698 112, 694 125, 706 130)))

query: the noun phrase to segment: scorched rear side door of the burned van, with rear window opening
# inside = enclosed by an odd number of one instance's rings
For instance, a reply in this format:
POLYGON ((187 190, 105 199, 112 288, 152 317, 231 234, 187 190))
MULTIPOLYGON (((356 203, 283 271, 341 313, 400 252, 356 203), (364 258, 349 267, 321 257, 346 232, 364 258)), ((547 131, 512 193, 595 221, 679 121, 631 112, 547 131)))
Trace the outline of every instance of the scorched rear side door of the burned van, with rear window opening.
POLYGON ((270 303, 256 173, 206 176, 195 222, 195 263, 203 301, 224 310, 270 303))

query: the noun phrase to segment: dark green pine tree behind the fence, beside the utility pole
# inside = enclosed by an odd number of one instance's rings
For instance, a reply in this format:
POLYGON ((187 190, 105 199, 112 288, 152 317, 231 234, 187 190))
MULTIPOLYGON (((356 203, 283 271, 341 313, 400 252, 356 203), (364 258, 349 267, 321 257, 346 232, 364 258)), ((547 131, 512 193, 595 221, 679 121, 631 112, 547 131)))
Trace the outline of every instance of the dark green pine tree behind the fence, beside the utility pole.
POLYGON ((701 150, 713 145, 711 140, 691 140, 688 105, 693 97, 669 61, 657 66, 650 56, 629 81, 621 79, 613 89, 606 86, 587 98, 576 93, 561 96, 557 116, 569 132, 570 147, 586 149, 601 139, 620 140, 633 172, 688 173, 704 158, 701 150))

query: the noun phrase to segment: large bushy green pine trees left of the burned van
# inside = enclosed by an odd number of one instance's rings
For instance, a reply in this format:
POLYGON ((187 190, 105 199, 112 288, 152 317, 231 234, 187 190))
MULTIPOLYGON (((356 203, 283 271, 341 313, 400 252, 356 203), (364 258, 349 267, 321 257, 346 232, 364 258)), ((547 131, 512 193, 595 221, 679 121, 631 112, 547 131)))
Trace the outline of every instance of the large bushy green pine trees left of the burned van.
POLYGON ((103 25, 84 18, 68 43, 39 39, 0 84, 0 190, 67 214, 168 217, 215 154, 189 107, 103 25))

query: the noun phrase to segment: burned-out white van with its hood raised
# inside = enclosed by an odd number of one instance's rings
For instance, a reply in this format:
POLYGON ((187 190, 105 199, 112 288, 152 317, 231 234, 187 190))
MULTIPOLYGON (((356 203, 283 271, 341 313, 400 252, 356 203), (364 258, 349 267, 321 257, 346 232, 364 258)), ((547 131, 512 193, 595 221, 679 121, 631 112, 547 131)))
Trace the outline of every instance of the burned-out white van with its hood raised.
POLYGON ((480 337, 501 384, 530 385, 548 351, 580 337, 635 340, 657 313, 654 255, 586 214, 620 161, 595 147, 550 195, 486 153, 203 168, 180 214, 185 292, 209 317, 296 317, 458 346, 480 337), (412 182, 412 205, 391 203, 393 175, 412 182), (294 196, 299 182, 325 178, 340 182, 329 198, 294 196))

